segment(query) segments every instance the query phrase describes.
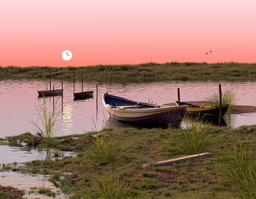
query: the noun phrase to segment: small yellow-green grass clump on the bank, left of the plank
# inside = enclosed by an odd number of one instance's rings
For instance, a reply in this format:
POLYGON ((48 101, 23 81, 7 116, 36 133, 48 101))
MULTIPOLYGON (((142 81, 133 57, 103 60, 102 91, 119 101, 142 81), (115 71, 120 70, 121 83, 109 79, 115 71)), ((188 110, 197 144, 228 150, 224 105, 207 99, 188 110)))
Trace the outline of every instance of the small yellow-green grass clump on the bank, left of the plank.
POLYGON ((107 134, 96 134, 96 140, 87 151, 87 157, 99 163, 107 163, 116 159, 119 154, 118 143, 106 142, 107 134))

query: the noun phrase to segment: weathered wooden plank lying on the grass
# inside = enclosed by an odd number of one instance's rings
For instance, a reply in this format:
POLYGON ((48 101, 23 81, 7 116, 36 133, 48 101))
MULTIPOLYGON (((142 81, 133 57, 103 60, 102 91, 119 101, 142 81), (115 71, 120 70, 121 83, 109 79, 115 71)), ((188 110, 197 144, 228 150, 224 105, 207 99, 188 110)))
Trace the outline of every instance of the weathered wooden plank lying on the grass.
POLYGON ((168 159, 168 160, 163 160, 159 162, 153 162, 151 164, 145 164, 143 165, 143 167, 157 166, 157 165, 169 166, 169 165, 172 165, 173 163, 180 163, 190 159, 197 159, 201 157, 211 157, 211 156, 212 154, 210 153, 195 154, 195 155, 184 156, 184 157, 175 158, 175 159, 168 159))

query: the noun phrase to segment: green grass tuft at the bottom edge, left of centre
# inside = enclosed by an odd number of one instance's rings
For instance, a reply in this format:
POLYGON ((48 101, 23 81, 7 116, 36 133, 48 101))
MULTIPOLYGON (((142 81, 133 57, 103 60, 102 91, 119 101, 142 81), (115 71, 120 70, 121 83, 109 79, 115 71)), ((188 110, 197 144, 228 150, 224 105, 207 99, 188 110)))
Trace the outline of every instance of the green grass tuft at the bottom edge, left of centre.
MULTIPOLYGON (((143 198, 140 190, 135 190, 131 183, 122 183, 119 178, 112 180, 103 178, 99 183, 91 179, 92 186, 76 193, 74 198, 80 199, 134 199, 143 198)), ((73 198, 73 197, 71 197, 73 198)))

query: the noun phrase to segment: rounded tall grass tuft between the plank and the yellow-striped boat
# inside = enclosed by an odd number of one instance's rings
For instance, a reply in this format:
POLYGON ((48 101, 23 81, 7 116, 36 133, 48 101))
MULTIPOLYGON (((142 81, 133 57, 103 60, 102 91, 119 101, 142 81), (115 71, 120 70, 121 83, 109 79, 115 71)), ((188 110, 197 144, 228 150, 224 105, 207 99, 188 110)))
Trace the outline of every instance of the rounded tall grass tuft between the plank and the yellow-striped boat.
POLYGON ((210 124, 192 120, 169 139, 170 151, 174 154, 200 154, 205 152, 212 143, 210 124))

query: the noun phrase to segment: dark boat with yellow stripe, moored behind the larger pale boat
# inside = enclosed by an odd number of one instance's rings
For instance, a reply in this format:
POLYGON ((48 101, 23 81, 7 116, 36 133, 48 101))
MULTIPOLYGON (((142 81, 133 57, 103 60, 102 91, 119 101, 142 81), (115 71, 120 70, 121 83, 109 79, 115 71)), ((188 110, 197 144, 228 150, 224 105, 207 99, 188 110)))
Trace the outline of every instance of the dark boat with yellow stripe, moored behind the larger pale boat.
MULTIPOLYGON (((177 101, 175 103, 178 105, 177 101)), ((213 119, 218 118, 220 114, 219 106, 198 106, 186 102, 180 102, 180 105, 188 105, 186 115, 194 119, 213 119)), ((222 105, 222 116, 227 112, 228 106, 229 104, 222 105)))

